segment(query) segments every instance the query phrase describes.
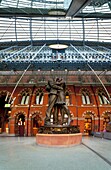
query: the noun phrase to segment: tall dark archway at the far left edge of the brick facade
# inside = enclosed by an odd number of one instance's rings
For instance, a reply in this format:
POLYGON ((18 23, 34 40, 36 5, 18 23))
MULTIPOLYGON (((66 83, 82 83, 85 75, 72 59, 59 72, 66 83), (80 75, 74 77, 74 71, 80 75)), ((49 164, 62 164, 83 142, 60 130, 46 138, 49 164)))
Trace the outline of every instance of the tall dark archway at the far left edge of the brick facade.
POLYGON ((0 133, 9 133, 10 105, 7 104, 7 92, 0 93, 0 133))

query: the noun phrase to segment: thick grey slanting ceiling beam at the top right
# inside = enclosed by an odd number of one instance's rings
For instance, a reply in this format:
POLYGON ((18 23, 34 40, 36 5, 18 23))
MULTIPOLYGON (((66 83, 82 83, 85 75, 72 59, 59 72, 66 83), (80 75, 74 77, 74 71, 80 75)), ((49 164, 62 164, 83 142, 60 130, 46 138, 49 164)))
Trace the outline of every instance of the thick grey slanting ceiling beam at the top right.
POLYGON ((82 10, 91 0, 72 0, 66 16, 74 17, 82 10))

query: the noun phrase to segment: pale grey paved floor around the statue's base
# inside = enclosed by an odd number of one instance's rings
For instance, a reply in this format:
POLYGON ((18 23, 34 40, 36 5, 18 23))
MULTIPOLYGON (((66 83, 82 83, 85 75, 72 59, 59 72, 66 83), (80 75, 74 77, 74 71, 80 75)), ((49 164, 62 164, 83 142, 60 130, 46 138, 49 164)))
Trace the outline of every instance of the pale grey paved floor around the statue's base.
POLYGON ((111 140, 83 137, 68 148, 40 147, 35 137, 0 137, 0 170, 111 170, 111 140))

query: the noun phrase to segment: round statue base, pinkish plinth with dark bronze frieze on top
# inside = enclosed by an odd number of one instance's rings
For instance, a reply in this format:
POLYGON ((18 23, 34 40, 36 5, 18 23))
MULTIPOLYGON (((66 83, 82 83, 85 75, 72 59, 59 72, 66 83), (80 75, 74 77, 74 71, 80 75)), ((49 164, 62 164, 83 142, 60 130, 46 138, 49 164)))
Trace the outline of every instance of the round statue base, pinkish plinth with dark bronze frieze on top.
POLYGON ((36 134, 36 143, 41 146, 69 147, 82 143, 78 126, 42 126, 36 134))

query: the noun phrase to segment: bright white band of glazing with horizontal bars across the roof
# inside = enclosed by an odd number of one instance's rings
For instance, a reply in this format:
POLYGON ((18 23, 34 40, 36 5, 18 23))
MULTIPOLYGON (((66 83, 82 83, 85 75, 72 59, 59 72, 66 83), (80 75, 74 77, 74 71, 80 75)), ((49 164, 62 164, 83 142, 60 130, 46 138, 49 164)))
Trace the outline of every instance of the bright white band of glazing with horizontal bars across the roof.
POLYGON ((111 41, 111 19, 0 17, 0 42, 111 41))

